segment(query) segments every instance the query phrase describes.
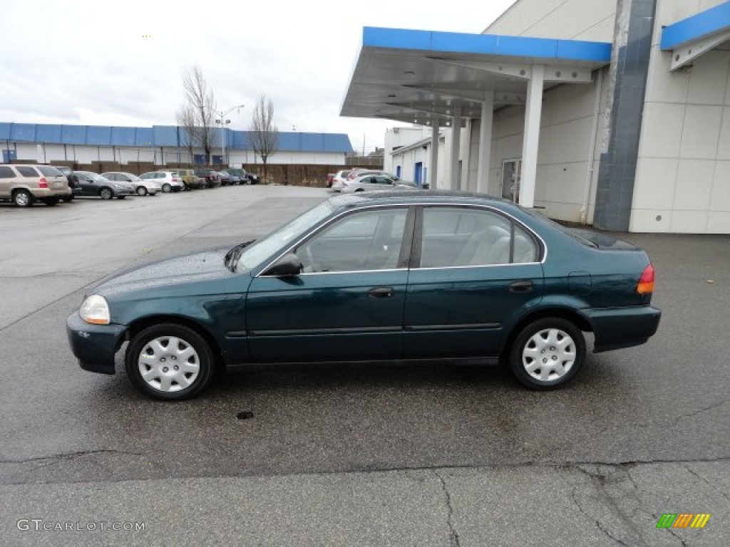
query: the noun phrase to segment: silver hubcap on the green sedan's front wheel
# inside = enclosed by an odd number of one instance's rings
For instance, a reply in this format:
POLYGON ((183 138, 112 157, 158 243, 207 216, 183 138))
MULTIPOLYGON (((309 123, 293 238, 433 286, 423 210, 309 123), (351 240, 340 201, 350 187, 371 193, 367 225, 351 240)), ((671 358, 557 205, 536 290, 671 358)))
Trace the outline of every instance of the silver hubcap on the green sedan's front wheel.
POLYGON ((196 381, 200 359, 193 346, 182 338, 159 336, 142 348, 137 367, 153 389, 176 392, 196 381))

